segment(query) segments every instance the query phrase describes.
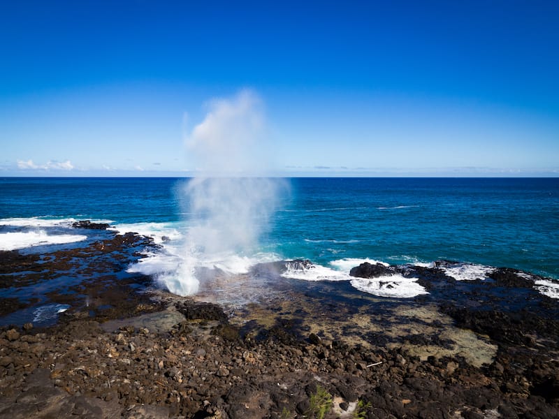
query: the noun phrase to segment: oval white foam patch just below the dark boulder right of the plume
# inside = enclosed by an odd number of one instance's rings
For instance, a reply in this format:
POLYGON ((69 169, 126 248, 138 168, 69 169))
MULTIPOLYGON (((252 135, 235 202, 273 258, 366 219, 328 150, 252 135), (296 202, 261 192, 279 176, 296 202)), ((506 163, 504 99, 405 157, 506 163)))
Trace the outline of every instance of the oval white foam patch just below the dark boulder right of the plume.
POLYGON ((402 277, 400 274, 386 275, 377 278, 354 278, 351 286, 359 291, 379 297, 412 298, 428 294, 416 279, 402 277))

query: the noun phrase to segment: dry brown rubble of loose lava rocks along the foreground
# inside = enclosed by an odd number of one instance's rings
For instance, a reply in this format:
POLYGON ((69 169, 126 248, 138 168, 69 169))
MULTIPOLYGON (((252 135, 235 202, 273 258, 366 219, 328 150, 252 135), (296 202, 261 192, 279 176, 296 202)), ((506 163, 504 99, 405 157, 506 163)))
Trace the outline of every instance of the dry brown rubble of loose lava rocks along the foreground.
MULTIPOLYGON (((523 322, 494 334, 498 355, 478 368, 460 357, 422 361, 398 348, 300 340, 281 328, 241 339, 222 309, 191 300, 147 316, 165 313, 184 320, 167 332, 106 332, 77 313, 47 330, 4 330, 0 417, 559 417, 556 353, 534 335, 543 330, 507 341, 523 335, 523 322)), ((486 323, 468 326, 493 334, 486 323)))

